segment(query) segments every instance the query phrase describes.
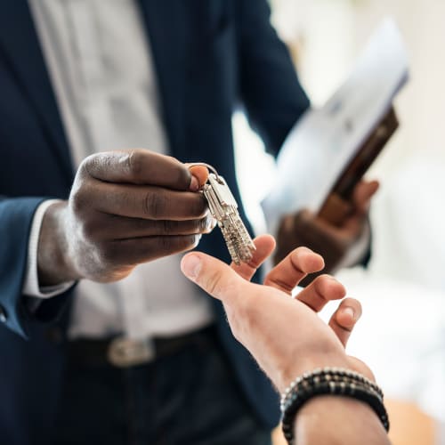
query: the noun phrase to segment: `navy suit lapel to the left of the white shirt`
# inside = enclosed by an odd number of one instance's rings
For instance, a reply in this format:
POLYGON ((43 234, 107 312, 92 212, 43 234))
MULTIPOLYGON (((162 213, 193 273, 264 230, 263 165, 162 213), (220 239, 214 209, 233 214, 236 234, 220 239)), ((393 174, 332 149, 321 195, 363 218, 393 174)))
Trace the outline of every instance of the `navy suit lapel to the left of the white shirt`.
POLYGON ((0 58, 14 77, 47 135, 53 155, 69 181, 73 167, 44 57, 28 2, 0 2, 0 58))

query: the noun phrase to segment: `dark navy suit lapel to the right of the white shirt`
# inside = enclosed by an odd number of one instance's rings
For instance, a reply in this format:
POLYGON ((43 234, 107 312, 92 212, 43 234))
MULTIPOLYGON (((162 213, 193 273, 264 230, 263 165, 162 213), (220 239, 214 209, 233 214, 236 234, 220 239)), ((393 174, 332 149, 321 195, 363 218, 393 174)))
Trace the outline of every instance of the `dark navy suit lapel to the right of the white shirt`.
POLYGON ((187 157, 184 141, 183 83, 189 38, 183 0, 139 0, 158 77, 164 121, 175 157, 187 157))

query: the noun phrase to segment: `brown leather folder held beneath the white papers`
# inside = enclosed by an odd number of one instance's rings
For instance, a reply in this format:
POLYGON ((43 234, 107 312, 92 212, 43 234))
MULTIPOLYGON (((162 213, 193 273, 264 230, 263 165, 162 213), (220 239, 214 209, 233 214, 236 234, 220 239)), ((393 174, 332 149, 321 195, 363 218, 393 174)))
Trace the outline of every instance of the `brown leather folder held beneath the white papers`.
MULTIPOLYGON (((374 162, 378 154, 383 150, 384 145, 388 142, 392 134, 395 133, 399 126, 399 121, 394 109, 391 107, 384 115, 380 122, 376 125, 375 130, 369 135, 368 139, 362 144, 360 150, 351 162, 344 168, 340 174, 334 187, 329 192, 328 197, 320 208, 319 216, 329 223, 340 224, 344 218, 343 212, 338 212, 338 206, 344 201, 351 200, 352 191, 355 185, 360 182, 374 162)), ((342 207, 340 207, 342 208, 342 207)))

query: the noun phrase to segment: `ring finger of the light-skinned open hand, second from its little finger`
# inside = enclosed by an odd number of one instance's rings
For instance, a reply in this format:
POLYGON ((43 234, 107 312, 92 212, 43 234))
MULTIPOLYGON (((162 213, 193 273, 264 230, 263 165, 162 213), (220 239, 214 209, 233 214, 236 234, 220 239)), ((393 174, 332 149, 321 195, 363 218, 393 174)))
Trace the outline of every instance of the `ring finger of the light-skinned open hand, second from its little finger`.
POLYGON ((296 300, 306 304, 313 311, 320 312, 332 300, 339 300, 346 295, 344 286, 330 275, 320 275, 295 296, 296 300))

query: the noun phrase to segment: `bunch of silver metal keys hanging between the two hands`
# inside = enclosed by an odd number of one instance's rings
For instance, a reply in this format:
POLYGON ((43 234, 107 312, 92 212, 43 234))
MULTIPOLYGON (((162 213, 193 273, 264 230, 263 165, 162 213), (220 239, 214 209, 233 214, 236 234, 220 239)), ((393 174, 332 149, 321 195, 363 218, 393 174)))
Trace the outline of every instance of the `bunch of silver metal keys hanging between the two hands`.
POLYGON ((210 214, 217 221, 223 232, 223 238, 231 254, 231 260, 235 264, 249 263, 256 250, 254 241, 239 217, 238 204, 229 186, 219 175, 213 166, 204 163, 194 166, 206 166, 211 172, 202 189, 207 200, 210 214))

